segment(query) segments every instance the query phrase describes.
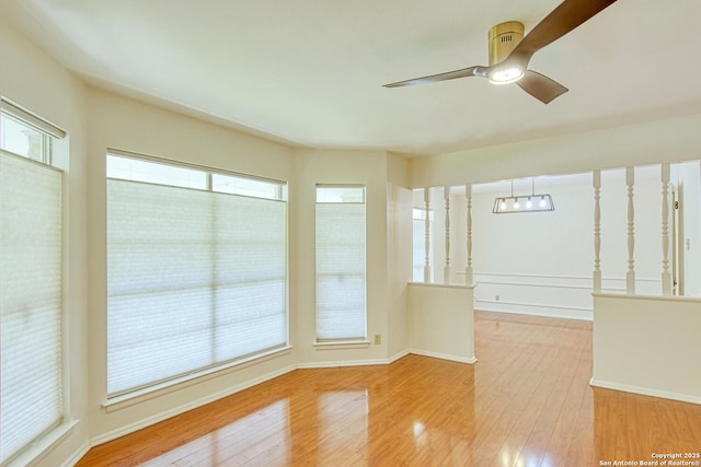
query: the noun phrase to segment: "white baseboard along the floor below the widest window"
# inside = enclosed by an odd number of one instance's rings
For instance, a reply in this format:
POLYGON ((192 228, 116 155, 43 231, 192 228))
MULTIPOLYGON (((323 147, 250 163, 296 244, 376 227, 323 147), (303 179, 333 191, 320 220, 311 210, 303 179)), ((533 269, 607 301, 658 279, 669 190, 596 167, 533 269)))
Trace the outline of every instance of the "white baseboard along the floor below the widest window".
POLYGON ((289 373, 289 372, 291 372, 294 370, 297 370, 297 366, 289 365, 289 366, 286 366, 284 369, 267 373, 267 374, 265 374, 263 376, 258 376, 256 378, 246 381, 246 382, 244 382, 242 384, 239 384, 239 385, 235 385, 235 386, 232 386, 232 387, 228 387, 228 388, 226 388, 223 390, 220 390, 218 393, 214 393, 214 394, 207 395, 205 397, 202 397, 199 399, 189 401, 187 404, 174 407, 174 408, 172 408, 170 410, 166 410, 164 412, 158 413, 158 415, 156 415, 153 417, 149 417, 147 419, 139 420, 138 422, 128 424, 126 427, 122 427, 122 428, 119 428, 117 430, 113 430, 113 431, 110 431, 107 433, 103 433, 103 434, 101 434, 99 436, 93 437, 91 440, 91 445, 92 446, 97 446, 97 445, 106 443, 108 441, 116 440, 117 437, 122 437, 122 436, 127 435, 129 433, 134 433, 135 431, 138 431, 138 430, 141 430, 143 428, 150 427, 150 425, 156 424, 158 422, 161 422, 163 420, 168 420, 168 419, 170 419, 172 417, 179 416, 179 415, 184 413, 184 412, 186 412, 188 410, 196 409, 198 407, 202 407, 202 406, 205 406, 207 404, 210 404, 210 402, 214 402, 216 400, 219 400, 219 399, 221 399, 223 397, 231 396, 232 394, 239 393, 239 392, 241 392, 243 389, 248 389, 248 388, 253 387, 255 385, 258 385, 261 383, 265 383, 266 381, 274 380, 274 378, 276 378, 278 376, 281 376, 281 375, 284 375, 286 373, 289 373))

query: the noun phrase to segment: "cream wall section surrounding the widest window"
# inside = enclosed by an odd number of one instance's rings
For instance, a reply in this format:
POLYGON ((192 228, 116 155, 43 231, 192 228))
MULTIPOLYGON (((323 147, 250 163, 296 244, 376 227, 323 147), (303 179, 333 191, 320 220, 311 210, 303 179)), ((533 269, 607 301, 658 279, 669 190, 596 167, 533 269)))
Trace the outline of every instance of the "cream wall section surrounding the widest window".
MULTIPOLYGON (((196 384, 183 383, 103 408, 106 401, 106 217, 105 154, 118 149, 189 162, 226 171, 290 180, 294 189, 295 154, 291 148, 246 136, 217 125, 160 109, 112 93, 90 89, 89 96, 89 407, 94 443, 104 442, 192 407, 220 398, 256 382, 296 367, 291 352, 253 365, 237 366, 196 384)), ((294 210, 290 196, 288 209, 294 210)), ((290 230, 290 245, 295 242, 290 230)), ((294 248, 290 253, 294 252, 294 248)), ((295 265, 290 255, 290 268, 295 265)), ((291 275, 290 275, 291 277, 291 275)), ((295 317, 295 288, 290 281, 290 318, 295 317)), ((292 343, 294 343, 294 336, 292 343)))

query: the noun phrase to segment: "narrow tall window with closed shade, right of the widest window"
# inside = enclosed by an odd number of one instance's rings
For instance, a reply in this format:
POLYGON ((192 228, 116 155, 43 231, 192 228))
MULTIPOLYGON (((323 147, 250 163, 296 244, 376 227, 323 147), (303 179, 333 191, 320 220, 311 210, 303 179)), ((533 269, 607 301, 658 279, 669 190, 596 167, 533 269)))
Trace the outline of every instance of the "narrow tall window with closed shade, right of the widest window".
POLYGON ((317 187, 317 340, 366 340, 364 186, 317 187))

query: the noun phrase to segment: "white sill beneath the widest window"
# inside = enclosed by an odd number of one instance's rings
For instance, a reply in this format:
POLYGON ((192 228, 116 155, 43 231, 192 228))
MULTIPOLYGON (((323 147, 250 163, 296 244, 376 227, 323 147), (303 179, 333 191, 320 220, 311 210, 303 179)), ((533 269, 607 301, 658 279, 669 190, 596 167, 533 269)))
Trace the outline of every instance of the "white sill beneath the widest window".
POLYGON ((266 353, 261 353, 261 354, 251 357, 250 359, 246 359, 246 360, 237 360, 225 365, 192 373, 189 375, 171 380, 162 384, 153 385, 148 388, 135 390, 133 393, 124 394, 120 396, 111 397, 102 405, 102 407, 105 409, 107 413, 115 412, 117 410, 126 409, 128 407, 146 402, 157 397, 162 397, 164 395, 174 393, 176 390, 181 390, 186 387, 200 384, 205 381, 212 380, 215 377, 223 376, 226 374, 233 373, 235 371, 240 371, 249 366, 253 366, 253 365, 256 365, 283 355, 289 355, 291 351, 292 351, 292 348, 290 346, 287 346, 279 349, 271 350, 269 352, 266 352, 266 353))

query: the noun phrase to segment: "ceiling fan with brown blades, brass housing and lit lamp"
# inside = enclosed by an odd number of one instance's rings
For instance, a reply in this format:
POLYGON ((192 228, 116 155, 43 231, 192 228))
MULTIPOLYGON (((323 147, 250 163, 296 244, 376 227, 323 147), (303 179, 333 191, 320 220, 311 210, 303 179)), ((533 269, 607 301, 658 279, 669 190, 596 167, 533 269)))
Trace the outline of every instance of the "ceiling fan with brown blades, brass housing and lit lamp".
POLYGON ((409 86, 481 77, 493 84, 516 83, 543 104, 567 92, 562 84, 528 69, 530 58, 541 48, 555 42, 585 23, 617 0, 565 0, 524 37, 524 24, 508 21, 490 30, 490 66, 476 66, 446 73, 414 78, 384 87, 409 86))

